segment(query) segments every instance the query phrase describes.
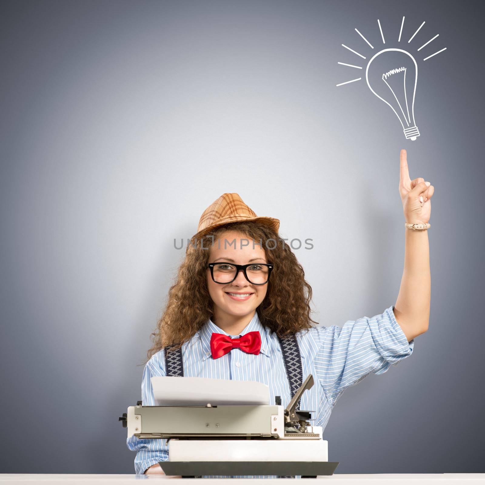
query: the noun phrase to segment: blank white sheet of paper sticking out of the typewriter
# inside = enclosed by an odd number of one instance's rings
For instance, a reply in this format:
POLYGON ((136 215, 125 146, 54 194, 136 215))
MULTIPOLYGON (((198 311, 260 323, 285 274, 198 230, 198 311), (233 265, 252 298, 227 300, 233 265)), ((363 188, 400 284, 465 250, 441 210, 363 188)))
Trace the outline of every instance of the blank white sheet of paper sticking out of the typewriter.
POLYGON ((256 381, 206 377, 151 378, 156 406, 270 404, 270 389, 256 381))

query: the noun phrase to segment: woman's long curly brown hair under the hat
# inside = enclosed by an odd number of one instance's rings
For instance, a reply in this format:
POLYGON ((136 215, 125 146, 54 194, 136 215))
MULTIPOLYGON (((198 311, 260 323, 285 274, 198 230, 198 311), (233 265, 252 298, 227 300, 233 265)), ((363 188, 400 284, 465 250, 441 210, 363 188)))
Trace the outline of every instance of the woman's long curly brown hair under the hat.
POLYGON ((173 344, 171 350, 180 348, 212 317, 213 302, 207 287, 208 248, 229 230, 261 241, 267 260, 274 265, 266 296, 256 308, 259 321, 280 337, 294 335, 317 323, 311 319, 311 286, 290 245, 258 221, 228 223, 202 236, 195 234, 187 244, 176 282, 168 291, 167 305, 157 330, 151 334, 154 345, 147 351, 145 364, 166 345, 173 344))

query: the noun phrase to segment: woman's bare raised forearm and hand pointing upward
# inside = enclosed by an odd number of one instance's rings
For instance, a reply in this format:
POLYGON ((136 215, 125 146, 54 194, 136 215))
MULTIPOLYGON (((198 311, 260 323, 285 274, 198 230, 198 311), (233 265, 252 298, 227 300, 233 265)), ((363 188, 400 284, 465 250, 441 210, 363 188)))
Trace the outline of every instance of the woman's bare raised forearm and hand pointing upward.
MULTIPOLYGON (((406 150, 401 150, 399 194, 405 222, 426 224, 431 215, 431 196, 435 188, 424 178, 409 178, 406 150), (422 198, 421 198, 422 197, 422 198)), ((431 303, 428 230, 404 228, 404 271, 394 306, 396 321, 410 341, 428 330, 431 303)))

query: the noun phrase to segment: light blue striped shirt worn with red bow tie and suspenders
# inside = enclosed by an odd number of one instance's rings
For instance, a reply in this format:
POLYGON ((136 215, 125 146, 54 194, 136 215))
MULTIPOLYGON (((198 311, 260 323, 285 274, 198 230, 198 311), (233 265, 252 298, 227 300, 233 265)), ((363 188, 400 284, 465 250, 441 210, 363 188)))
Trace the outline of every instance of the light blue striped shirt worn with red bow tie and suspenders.
MULTIPOLYGON (((236 348, 225 356, 213 359, 210 353, 212 332, 228 334, 209 320, 182 345, 184 375, 259 381, 269 387, 271 404, 274 404, 275 396, 281 396, 281 404, 286 407, 291 400, 290 385, 279 341, 274 332, 260 323, 258 313, 255 313, 241 335, 254 330, 261 334, 259 355, 246 354, 236 348)), ((357 384, 371 372, 379 375, 386 372, 391 364, 397 366, 402 359, 412 354, 414 348, 414 339, 407 341, 392 306, 372 318, 349 320, 343 327, 315 326, 302 330, 296 334, 296 338, 302 357, 303 378, 313 374, 315 380, 315 385, 303 393, 300 409, 315 411, 310 423, 322 426, 323 429, 333 406, 346 388, 357 384)), ((143 371, 142 405, 155 405, 150 378, 164 375, 165 361, 161 350, 150 358, 143 371)), ((168 460, 166 439, 130 436, 127 438, 127 446, 137 452, 137 474, 143 474, 159 461, 168 460)), ((246 475, 233 478, 259 477, 246 475)))

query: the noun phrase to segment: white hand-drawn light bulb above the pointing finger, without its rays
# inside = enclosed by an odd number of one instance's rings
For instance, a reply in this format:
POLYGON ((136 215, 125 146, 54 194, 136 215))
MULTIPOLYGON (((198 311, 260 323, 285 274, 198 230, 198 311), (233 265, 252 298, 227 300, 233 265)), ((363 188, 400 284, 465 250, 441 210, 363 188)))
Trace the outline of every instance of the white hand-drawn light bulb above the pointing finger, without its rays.
POLYGON ((403 49, 384 49, 372 56, 365 72, 372 93, 396 113, 406 139, 420 136, 414 120, 414 96, 418 81, 418 65, 403 49))

